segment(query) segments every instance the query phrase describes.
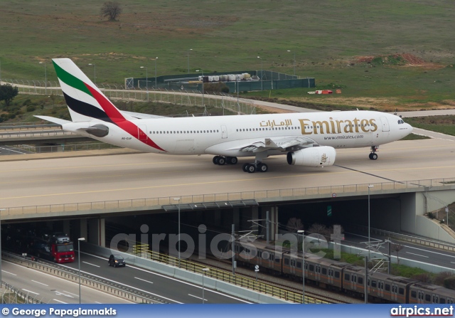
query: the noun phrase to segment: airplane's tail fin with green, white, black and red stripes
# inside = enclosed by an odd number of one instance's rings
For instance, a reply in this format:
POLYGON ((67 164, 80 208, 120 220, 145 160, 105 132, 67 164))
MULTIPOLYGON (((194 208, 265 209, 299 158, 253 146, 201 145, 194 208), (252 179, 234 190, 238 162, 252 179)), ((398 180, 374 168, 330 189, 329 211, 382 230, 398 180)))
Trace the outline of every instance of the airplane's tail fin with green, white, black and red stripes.
POLYGON ((122 114, 80 68, 69 58, 53 58, 55 73, 73 122, 124 122, 133 117, 122 114))

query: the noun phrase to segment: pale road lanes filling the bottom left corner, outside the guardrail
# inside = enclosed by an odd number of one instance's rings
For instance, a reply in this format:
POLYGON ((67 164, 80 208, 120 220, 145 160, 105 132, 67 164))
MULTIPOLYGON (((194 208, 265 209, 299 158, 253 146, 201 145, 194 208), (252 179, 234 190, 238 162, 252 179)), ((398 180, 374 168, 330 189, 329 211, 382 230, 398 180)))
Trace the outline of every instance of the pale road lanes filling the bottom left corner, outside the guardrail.
MULTIPOLYGON (((1 279, 26 295, 48 304, 78 304, 79 285, 77 282, 23 267, 8 261, 1 262, 1 279)), ((131 304, 105 292, 81 286, 82 304, 131 304)))

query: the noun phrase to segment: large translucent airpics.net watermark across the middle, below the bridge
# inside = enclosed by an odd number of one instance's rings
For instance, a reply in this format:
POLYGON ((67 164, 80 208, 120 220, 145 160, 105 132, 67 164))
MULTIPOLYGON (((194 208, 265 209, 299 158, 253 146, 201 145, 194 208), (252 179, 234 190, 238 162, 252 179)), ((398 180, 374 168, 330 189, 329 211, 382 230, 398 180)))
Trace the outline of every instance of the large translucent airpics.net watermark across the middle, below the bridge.
MULTIPOLYGON (((153 253, 159 253, 160 244, 161 242, 166 241, 166 236, 168 240, 168 253, 169 255, 178 255, 178 234, 166 234, 166 233, 149 233, 149 226, 143 224, 140 228, 141 234, 139 235, 140 238, 137 240, 136 234, 126 234, 126 233, 119 233, 114 235, 112 240, 110 241, 110 250, 112 253, 119 251, 119 243, 122 241, 126 241, 128 244, 128 248, 126 253, 134 253, 135 248, 134 245, 141 245, 144 246, 151 246, 151 251, 153 253), (149 238, 151 237, 151 242, 149 242, 149 238)), ((241 238, 235 238, 233 235, 228 233, 220 233, 215 235, 213 238, 210 239, 210 242, 207 240, 207 226, 201 224, 198 226, 198 248, 197 248, 197 256, 198 259, 203 260, 207 256, 207 249, 209 248, 210 254, 219 258, 220 260, 227 260, 232 258, 232 250, 230 250, 230 246, 232 245, 232 241, 235 242, 236 245, 240 245, 240 248, 237 249, 240 251, 240 257, 245 260, 250 260, 257 256, 257 245, 255 241, 257 240, 256 236, 244 236, 241 238)), ((274 235, 274 241, 272 248, 271 246, 267 246, 267 252, 261 253, 261 257, 264 259, 269 259, 270 257, 270 250, 274 253, 275 258, 281 258, 281 254, 284 250, 289 250, 291 256, 297 257, 299 246, 302 245, 301 240, 299 241, 299 237, 301 234, 298 233, 285 233, 285 234, 276 234, 274 235), (283 245, 287 247, 284 248, 283 245), (274 251, 274 252, 273 252, 274 251)), ((333 258, 338 259, 341 258, 341 240, 343 240, 343 235, 341 234, 341 226, 333 226, 333 233, 331 234, 331 240, 333 241, 333 258)), ((194 255, 196 251, 196 243, 195 240, 188 235, 187 233, 180 233, 180 243, 181 246, 185 246, 185 250, 181 250, 180 258, 181 259, 188 259, 194 255), (183 244, 182 244, 183 243, 183 244)), ((122 244, 124 245, 124 244, 122 244)), ((328 248, 328 242, 326 237, 317 234, 311 233, 310 235, 306 235, 304 238, 304 248, 305 248, 305 255, 309 258, 323 258, 326 253, 324 253, 321 249, 328 248), (313 253, 311 250, 317 248, 319 252, 313 253)))

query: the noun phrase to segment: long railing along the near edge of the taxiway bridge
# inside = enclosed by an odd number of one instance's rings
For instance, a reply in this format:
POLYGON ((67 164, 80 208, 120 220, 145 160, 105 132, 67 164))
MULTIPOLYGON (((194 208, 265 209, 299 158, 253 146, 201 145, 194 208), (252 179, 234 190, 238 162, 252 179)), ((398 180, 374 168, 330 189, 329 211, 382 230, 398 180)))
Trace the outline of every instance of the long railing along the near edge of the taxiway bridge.
MULTIPOLYGON (((380 182, 375 184, 350 184, 340 186, 314 186, 309 188, 296 189, 275 189, 262 191, 245 191, 231 192, 223 194, 194 194, 191 196, 180 196, 180 203, 204 203, 214 201, 235 201, 249 199, 267 199, 267 198, 301 198, 305 196, 336 196, 338 194, 362 194, 368 193, 368 186, 371 193, 378 191, 397 190, 397 189, 418 189, 422 187, 455 187, 455 178, 443 179, 424 179, 413 181, 391 181, 380 182)), ((112 201, 95 201, 95 202, 80 202, 80 203, 63 203, 63 204, 48 204, 41 206, 16 206, 2 207, 0 216, 13 216, 21 214, 36 214, 36 213, 55 213, 68 211, 91 211, 91 210, 106 210, 113 208, 139 208, 150 206, 164 206, 175 204, 173 200, 175 196, 166 196, 159 198, 137 198, 126 200, 112 201)))

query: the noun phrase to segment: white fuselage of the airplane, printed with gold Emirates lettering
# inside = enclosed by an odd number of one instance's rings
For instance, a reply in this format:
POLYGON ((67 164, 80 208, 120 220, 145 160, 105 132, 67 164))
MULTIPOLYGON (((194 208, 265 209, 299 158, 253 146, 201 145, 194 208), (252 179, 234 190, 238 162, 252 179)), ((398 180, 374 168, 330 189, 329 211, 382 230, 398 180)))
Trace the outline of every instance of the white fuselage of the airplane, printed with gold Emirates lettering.
MULTIPOLYGON (((144 152, 248 157, 254 153, 241 151, 240 148, 264 142, 266 138, 279 140, 305 137, 321 146, 357 148, 394 142, 412 132, 412 127, 400 117, 373 111, 157 118, 131 122, 141 130, 136 136, 108 122, 102 122, 109 127, 106 137, 82 134, 144 152), (144 142, 146 138, 159 147, 144 142)), ((63 129, 80 134, 77 126, 90 127, 97 123, 100 121, 72 122, 63 124, 63 129)))

